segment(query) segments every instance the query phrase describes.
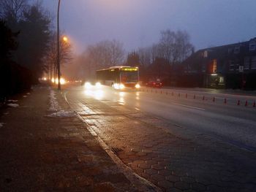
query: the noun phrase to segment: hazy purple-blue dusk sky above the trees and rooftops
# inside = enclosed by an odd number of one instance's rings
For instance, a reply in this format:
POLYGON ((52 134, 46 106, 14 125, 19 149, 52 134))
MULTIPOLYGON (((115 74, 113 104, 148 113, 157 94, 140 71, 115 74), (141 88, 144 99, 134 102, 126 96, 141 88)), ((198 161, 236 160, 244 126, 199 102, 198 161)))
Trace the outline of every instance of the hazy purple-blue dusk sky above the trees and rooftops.
MULTIPOLYGON (((58 0, 43 5, 56 19, 58 0)), ((187 31, 196 50, 256 37, 255 0, 61 0, 61 30, 75 51, 116 39, 127 51, 152 45, 160 31, 187 31)))

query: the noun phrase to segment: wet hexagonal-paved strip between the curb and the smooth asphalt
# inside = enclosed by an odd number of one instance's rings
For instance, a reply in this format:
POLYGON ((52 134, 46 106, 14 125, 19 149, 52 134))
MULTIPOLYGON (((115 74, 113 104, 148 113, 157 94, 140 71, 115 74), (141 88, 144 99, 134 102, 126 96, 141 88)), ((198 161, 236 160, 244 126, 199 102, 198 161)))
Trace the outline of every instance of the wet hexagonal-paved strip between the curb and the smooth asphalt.
POLYGON ((162 191, 256 191, 255 153, 113 101, 66 96, 124 164, 162 191))

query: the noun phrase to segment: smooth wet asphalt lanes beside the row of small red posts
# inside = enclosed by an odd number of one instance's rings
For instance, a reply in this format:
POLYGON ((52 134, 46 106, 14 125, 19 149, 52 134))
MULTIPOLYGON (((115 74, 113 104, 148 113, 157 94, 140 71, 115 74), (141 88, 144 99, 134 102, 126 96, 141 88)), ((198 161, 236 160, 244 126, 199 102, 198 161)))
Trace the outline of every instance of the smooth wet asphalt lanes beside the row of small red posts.
MULTIPOLYGON (((184 89, 142 88, 140 91, 115 91, 106 86, 91 89, 78 86, 70 91, 107 104, 113 101, 146 112, 163 122, 187 128, 195 134, 209 134, 256 152, 256 107, 252 107, 256 96, 184 89), (245 101, 247 106, 244 106, 245 101)), ((176 134, 182 134, 182 131, 177 128, 176 134)))

